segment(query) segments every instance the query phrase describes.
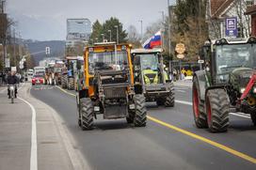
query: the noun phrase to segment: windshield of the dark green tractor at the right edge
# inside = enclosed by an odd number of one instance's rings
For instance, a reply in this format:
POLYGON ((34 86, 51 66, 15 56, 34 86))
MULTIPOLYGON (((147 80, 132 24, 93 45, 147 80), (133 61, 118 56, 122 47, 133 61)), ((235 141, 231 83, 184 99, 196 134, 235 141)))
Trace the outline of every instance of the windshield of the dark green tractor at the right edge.
POLYGON ((255 44, 232 44, 216 46, 216 78, 226 82, 229 73, 241 67, 256 67, 255 44))

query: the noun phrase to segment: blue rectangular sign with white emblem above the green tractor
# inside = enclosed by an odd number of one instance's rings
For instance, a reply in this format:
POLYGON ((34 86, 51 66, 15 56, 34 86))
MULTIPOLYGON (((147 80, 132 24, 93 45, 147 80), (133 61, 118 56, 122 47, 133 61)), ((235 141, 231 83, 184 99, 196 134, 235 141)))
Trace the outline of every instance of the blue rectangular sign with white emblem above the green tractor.
POLYGON ((226 18, 226 36, 227 37, 237 37, 237 17, 226 18))

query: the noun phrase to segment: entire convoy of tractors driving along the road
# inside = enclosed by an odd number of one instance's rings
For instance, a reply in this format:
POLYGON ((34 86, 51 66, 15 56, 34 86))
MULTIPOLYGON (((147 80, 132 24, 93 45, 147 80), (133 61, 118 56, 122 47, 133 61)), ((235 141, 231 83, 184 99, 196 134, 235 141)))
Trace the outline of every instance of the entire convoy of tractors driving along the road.
MULTIPOLYGON (((132 49, 129 44, 96 43, 84 56, 66 56, 45 70, 46 85, 76 91, 77 122, 93 129, 98 116, 147 124, 147 101, 174 107, 174 85, 162 49, 132 49)), ((256 125, 256 38, 207 40, 200 49, 202 70, 193 72, 195 124, 228 131, 229 114, 250 115, 256 125)))

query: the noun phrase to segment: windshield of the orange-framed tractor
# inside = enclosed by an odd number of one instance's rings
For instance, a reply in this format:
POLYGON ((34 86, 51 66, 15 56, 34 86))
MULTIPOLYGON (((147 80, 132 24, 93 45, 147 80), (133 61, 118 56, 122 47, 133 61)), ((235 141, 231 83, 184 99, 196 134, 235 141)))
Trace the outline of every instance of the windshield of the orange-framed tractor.
POLYGON ((88 55, 88 70, 93 74, 95 70, 125 70, 128 65, 127 52, 90 53, 88 55))

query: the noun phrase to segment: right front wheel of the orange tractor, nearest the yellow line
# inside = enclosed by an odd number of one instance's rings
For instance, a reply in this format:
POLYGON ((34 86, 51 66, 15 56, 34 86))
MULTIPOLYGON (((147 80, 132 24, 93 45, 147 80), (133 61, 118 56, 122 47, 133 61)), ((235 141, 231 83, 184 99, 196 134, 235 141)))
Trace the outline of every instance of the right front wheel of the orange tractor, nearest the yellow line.
POLYGON ((136 113, 134 123, 136 127, 145 127, 147 124, 146 100, 143 95, 135 95, 136 113))

